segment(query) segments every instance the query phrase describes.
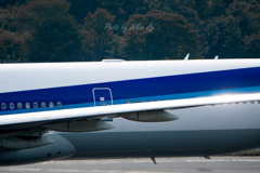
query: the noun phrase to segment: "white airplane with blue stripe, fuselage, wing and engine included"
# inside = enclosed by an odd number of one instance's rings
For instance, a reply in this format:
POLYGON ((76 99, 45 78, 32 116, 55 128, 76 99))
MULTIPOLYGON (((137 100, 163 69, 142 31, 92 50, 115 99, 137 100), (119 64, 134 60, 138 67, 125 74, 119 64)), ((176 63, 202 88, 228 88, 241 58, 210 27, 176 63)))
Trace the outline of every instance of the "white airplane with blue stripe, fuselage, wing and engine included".
POLYGON ((0 64, 0 74, 2 167, 260 146, 260 59, 0 64))

